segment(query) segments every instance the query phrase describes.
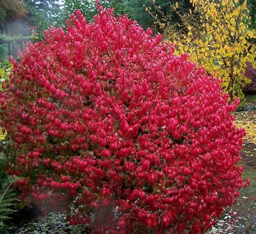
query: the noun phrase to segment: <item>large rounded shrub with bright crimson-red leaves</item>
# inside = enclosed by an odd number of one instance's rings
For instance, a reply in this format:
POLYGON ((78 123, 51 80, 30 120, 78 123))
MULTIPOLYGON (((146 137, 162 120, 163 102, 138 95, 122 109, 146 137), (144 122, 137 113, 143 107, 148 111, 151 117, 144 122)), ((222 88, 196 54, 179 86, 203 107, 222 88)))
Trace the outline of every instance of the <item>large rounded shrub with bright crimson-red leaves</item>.
POLYGON ((93 233, 203 233, 246 186, 238 101, 161 35, 98 8, 94 23, 77 11, 67 33, 51 28, 12 60, 8 172, 25 177, 26 201, 93 233))

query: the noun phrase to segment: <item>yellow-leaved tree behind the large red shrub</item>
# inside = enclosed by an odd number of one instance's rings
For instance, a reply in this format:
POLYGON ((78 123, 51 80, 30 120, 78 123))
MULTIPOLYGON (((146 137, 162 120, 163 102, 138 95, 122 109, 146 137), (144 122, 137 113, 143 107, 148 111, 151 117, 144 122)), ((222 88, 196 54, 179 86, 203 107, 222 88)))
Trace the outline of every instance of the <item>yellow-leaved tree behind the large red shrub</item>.
POLYGON ((243 98, 242 87, 250 83, 244 76, 247 63, 255 67, 255 30, 250 29, 246 1, 190 0, 193 12, 181 13, 174 4, 182 24, 166 20, 164 37, 173 42, 176 54, 189 53, 191 60, 207 73, 222 78, 223 90, 243 98))

